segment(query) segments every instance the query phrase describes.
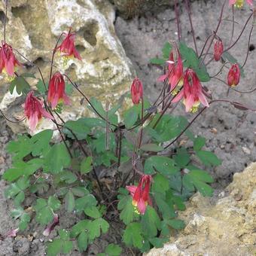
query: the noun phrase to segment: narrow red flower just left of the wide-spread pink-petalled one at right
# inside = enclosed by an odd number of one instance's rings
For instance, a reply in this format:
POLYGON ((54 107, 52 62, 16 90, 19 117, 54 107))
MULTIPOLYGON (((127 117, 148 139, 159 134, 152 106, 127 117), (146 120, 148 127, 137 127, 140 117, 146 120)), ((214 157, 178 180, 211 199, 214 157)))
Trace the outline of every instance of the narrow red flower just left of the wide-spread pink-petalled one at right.
POLYGON ((161 75, 160 78, 158 78, 158 81, 165 81, 168 79, 169 85, 171 86, 170 89, 172 91, 175 89, 175 87, 181 87, 183 84, 183 63, 181 54, 179 53, 177 47, 173 47, 167 63, 168 70, 165 75, 161 75))

